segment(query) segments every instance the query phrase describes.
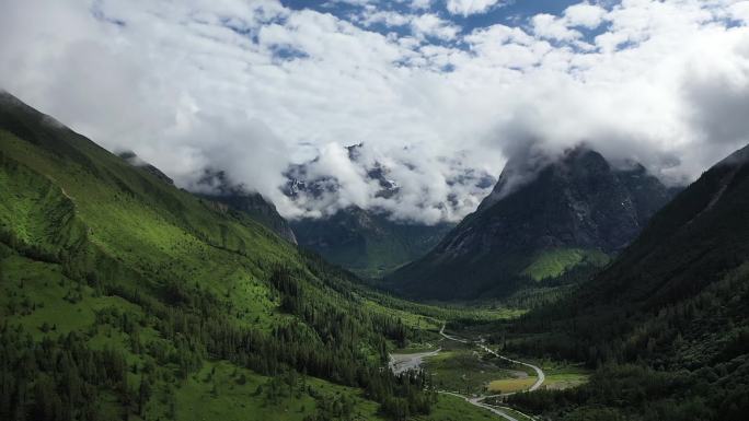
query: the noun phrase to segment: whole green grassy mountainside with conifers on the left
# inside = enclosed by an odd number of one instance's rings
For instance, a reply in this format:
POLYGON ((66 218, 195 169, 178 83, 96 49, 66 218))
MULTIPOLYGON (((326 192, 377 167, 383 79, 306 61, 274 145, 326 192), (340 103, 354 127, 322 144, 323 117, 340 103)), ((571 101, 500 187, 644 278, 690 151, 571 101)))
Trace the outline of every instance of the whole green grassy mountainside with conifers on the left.
POLYGON ((448 399, 381 370, 436 335, 410 304, 4 92, 0 197, 0 419, 382 420, 448 399))

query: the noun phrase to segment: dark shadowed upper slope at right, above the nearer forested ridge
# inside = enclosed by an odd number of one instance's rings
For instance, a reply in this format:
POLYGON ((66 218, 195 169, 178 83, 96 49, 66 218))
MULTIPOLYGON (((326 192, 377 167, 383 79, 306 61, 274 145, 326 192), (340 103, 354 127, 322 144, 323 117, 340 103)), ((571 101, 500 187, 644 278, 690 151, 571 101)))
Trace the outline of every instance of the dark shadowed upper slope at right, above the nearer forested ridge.
POLYGON ((748 161, 749 148, 737 151, 677 196, 602 273, 602 288, 591 300, 675 301, 744 262, 749 252, 748 161))

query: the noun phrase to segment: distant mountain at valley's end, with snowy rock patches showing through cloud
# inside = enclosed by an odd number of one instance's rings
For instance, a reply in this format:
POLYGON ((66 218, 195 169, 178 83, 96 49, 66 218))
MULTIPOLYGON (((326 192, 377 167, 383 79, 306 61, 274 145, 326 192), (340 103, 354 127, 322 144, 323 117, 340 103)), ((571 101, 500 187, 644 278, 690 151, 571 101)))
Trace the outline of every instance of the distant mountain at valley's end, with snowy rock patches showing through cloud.
MULTIPOLYGON (((358 165, 362 144, 347 148, 348 159, 358 165)), ((338 180, 311 175, 308 164, 291 166, 284 192, 292 200, 315 201, 336 195, 338 180)), ((388 177, 389 168, 380 163, 366 167, 367 179, 377 183, 377 197, 392 198, 400 191, 397 183, 388 177)), ((468 182, 466 182, 468 183, 468 182)), ((291 221, 299 245, 321 254, 364 278, 383 274, 424 256, 453 226, 448 222, 425 224, 393 221, 382 209, 349 206, 321 218, 291 221)))

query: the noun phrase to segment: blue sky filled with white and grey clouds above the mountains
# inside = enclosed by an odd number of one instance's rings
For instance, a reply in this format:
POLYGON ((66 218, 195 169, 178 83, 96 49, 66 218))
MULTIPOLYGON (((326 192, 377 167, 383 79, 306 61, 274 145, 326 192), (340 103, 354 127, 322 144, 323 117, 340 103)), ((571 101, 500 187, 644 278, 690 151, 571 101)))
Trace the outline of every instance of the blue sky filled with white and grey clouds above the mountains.
POLYGON ((736 0, 0 0, 0 87, 182 187, 222 169, 287 218, 433 224, 528 151, 693 180, 749 141, 748 23, 736 0), (300 163, 337 189, 286 197, 300 163))

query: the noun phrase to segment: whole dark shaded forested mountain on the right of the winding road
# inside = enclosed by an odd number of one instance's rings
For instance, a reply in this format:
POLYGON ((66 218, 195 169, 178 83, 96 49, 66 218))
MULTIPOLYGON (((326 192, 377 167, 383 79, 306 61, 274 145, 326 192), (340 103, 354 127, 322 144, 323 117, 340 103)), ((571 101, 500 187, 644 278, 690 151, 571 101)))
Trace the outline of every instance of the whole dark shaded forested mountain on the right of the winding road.
POLYGON ((599 367, 575 393, 528 395, 512 404, 565 421, 745 420, 747 215, 749 147, 680 192, 571 297, 507 327, 516 336, 509 352, 599 367))

